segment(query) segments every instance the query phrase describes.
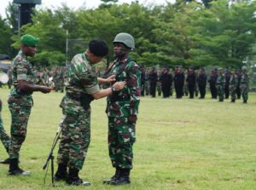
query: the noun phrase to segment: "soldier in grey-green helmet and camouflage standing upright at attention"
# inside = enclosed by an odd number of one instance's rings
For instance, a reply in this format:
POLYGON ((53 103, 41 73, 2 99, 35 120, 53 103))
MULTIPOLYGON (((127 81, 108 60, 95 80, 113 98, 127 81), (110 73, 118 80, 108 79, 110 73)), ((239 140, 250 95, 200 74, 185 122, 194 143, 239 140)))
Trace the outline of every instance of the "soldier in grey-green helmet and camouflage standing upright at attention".
POLYGON ((115 174, 105 184, 122 185, 130 183, 133 150, 136 141, 136 122, 141 95, 141 71, 131 60, 129 53, 135 48, 133 37, 119 33, 113 40, 113 55, 116 60, 108 69, 108 76, 115 74, 117 81, 126 81, 120 92, 109 95, 108 114, 108 151, 115 174))

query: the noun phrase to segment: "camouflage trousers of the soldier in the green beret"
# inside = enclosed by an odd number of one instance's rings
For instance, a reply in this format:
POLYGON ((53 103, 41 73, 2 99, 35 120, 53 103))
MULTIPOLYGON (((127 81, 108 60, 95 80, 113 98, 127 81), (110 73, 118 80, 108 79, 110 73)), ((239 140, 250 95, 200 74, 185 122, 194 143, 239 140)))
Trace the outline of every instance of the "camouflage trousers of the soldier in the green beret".
POLYGON ((28 106, 20 106, 17 103, 9 103, 9 111, 12 115, 9 158, 20 157, 20 147, 26 139, 26 126, 31 108, 32 107, 28 106))

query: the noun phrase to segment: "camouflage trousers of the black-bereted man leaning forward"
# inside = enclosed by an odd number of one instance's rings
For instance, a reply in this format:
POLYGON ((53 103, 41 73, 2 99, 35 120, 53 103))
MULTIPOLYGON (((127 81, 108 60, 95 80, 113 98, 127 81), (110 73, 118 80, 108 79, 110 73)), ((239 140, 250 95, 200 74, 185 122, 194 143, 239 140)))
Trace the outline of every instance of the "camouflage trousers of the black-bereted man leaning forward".
POLYGON ((90 111, 63 114, 58 164, 67 164, 68 168, 82 170, 90 144, 90 111))

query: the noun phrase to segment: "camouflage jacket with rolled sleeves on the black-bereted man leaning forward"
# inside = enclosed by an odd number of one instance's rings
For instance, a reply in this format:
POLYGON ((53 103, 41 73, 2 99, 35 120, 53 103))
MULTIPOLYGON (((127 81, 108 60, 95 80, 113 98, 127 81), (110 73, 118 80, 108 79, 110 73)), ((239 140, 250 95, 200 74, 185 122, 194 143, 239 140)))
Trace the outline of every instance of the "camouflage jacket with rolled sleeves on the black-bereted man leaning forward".
MULTIPOLYGON (((96 68, 90 63, 85 54, 75 55, 68 70, 66 95, 62 98, 61 105, 64 112, 77 114, 84 112, 81 105, 81 95, 94 94, 100 90, 96 68)), ((90 112, 90 109, 85 112, 90 112)))

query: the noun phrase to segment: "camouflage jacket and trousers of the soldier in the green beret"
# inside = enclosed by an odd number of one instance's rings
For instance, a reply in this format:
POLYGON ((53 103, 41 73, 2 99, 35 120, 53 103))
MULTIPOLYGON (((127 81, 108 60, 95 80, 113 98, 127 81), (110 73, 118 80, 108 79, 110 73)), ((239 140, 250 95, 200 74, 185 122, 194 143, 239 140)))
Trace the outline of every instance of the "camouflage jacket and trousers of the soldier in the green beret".
POLYGON ((34 78, 32 65, 20 50, 14 60, 13 84, 15 88, 11 89, 8 100, 12 117, 10 158, 19 158, 20 147, 26 138, 26 126, 32 108, 32 93, 24 93, 17 89, 18 80, 26 80, 26 83, 33 84, 34 78))

